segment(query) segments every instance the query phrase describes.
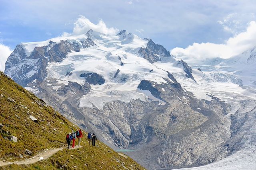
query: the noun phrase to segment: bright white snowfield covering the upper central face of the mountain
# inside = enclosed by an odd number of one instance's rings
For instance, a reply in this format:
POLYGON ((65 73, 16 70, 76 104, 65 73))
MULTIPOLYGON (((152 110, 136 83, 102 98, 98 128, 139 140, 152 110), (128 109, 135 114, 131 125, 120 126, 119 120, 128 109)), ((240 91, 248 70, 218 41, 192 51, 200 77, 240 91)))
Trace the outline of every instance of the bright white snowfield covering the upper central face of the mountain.
MULTIPOLYGON (((95 106, 102 109, 107 102, 120 100, 128 103, 132 99, 153 100, 164 104, 162 100, 153 98, 154 96, 152 97, 149 91, 137 90, 138 84, 143 79, 158 84, 166 83, 164 78, 169 79, 166 71, 156 64, 147 62, 139 55, 139 49, 146 48, 147 39, 141 39, 127 32, 124 35, 116 36, 102 35, 96 32, 90 37, 97 47, 82 49, 79 52, 72 51, 62 62, 50 63, 47 67, 49 77, 62 78, 62 81, 79 84, 84 83, 84 78, 80 77, 82 73, 94 72, 104 77, 104 84, 91 85, 90 93, 80 99, 80 107, 92 108, 95 106), (120 72, 114 77, 117 70, 120 72), (150 72, 150 70, 152 71, 150 72), (72 75, 65 76, 67 72, 72 72, 72 75), (115 92, 114 95, 113 92, 115 92)), ((27 46, 26 48, 32 47, 27 46)), ((175 59, 169 58, 163 61, 168 64, 170 68, 168 70, 175 70, 175 72, 183 74, 182 68, 172 66, 171 61, 175 61, 175 59)))

